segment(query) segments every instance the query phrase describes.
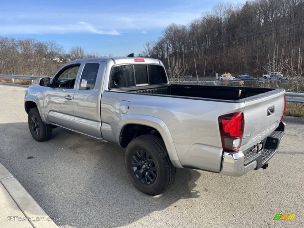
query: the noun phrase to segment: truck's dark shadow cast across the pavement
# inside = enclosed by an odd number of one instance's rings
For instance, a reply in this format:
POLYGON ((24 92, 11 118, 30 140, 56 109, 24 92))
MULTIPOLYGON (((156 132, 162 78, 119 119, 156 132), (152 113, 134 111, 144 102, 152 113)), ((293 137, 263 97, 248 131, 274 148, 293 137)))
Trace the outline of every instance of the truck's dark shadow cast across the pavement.
POLYGON ((39 143, 25 123, 0 124, 0 131, 5 136, 0 162, 50 217, 60 218, 60 226, 123 226, 203 194, 193 190, 200 172, 189 169, 177 169, 174 184, 164 194, 143 194, 126 174, 125 150, 113 143, 62 128, 39 143))

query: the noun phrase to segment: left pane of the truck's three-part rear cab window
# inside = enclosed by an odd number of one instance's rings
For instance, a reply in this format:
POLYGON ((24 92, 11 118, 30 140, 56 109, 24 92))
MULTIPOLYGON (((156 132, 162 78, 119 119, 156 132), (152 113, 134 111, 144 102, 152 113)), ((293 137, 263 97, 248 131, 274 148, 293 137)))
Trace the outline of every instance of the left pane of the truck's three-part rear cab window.
POLYGON ((135 86, 133 65, 113 67, 111 72, 110 88, 135 86))

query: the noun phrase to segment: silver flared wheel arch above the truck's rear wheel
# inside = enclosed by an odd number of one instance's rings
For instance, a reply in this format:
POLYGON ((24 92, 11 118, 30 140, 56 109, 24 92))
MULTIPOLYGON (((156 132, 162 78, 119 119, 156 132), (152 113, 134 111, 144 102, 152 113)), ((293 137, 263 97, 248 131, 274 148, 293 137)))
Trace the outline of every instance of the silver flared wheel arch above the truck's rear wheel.
POLYGON ((160 137, 164 141, 172 164, 177 168, 183 168, 168 126, 157 117, 136 114, 124 115, 117 127, 117 142, 120 146, 126 147, 132 139, 144 134, 160 137))

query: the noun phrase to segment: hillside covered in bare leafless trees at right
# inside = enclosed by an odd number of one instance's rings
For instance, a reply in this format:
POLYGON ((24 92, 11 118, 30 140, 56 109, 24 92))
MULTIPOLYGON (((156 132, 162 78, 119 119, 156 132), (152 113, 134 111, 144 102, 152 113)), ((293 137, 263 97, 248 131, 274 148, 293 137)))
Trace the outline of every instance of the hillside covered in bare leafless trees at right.
POLYGON ((206 77, 225 72, 261 76, 302 69, 303 41, 303 0, 255 0, 238 7, 220 3, 187 25, 168 26, 159 39, 146 43, 143 56, 161 59, 167 69, 184 66, 195 77, 196 70, 202 77, 205 67, 206 77))

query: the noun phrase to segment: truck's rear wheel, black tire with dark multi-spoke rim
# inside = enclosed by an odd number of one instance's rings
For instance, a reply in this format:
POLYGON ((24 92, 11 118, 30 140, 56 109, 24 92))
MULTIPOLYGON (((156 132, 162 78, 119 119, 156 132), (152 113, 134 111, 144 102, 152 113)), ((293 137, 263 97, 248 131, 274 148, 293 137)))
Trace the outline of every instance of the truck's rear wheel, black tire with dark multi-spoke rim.
POLYGON ((166 191, 175 178, 163 140, 153 135, 142 135, 127 146, 126 171, 136 188, 147 195, 166 191))

